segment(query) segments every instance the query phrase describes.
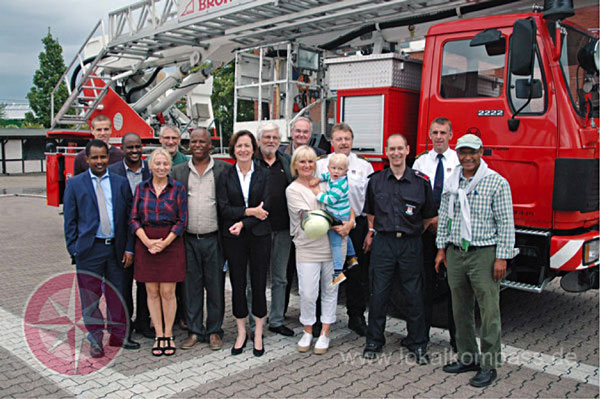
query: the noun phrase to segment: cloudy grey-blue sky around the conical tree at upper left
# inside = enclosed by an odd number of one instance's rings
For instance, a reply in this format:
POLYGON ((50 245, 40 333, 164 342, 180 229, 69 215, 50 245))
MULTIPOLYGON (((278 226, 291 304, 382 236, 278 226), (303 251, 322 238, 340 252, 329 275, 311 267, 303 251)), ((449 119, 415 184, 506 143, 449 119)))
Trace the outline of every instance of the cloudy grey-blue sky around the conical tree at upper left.
POLYGON ((133 0, 2 0, 0 12, 0 102, 26 100, 39 67, 48 27, 63 47, 65 64, 100 18, 133 0))

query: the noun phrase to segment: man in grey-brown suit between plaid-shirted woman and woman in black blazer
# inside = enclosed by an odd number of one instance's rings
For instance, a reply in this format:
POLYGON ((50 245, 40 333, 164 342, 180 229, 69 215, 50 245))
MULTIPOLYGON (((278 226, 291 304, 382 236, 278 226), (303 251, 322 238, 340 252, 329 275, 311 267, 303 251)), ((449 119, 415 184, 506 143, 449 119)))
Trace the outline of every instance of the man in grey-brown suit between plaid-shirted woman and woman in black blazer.
POLYGON ((221 326, 225 312, 225 275, 218 234, 216 187, 223 172, 231 165, 211 157, 211 149, 208 131, 193 130, 190 135, 192 159, 175 166, 171 173, 188 193, 187 268, 183 284, 188 338, 181 344, 181 349, 191 349, 198 342, 207 341, 212 350, 223 347, 221 326))

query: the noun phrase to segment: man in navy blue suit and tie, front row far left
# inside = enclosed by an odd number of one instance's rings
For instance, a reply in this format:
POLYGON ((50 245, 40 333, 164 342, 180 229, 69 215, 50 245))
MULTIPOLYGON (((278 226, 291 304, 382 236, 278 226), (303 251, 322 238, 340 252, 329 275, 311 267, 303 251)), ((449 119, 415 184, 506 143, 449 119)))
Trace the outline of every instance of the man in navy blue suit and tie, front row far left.
POLYGON ((104 356, 104 316, 98 303, 105 292, 110 346, 122 346, 127 320, 123 301, 124 269, 133 263, 129 232, 132 196, 127 179, 107 172, 108 145, 91 140, 85 148, 89 170, 67 181, 64 229, 67 250, 74 259, 90 355, 104 356), (103 280, 105 287, 103 290, 103 280))

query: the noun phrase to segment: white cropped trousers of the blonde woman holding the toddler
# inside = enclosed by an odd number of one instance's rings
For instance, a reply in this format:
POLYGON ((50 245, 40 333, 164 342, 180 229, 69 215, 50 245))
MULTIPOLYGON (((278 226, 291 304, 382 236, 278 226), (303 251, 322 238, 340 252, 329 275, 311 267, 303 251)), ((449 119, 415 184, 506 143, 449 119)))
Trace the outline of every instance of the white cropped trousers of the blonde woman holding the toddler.
POLYGON ((331 288, 333 261, 296 263, 300 293, 300 323, 312 326, 317 321, 317 298, 321 284, 321 323, 335 323, 338 287, 331 288))

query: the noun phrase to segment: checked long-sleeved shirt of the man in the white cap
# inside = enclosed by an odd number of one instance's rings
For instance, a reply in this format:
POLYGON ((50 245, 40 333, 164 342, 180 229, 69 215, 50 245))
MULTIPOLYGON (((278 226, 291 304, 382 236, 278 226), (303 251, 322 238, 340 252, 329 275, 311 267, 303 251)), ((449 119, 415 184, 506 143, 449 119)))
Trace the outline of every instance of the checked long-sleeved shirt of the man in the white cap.
MULTIPOLYGON (((465 188, 470 179, 461 171, 460 188, 465 188)), ((448 231, 449 193, 442 195, 439 210, 436 245, 446 248, 450 244, 461 246, 460 239, 460 201, 454 202, 454 220, 448 231)), ((475 190, 467 195, 471 207, 471 245, 483 247, 496 245, 496 258, 512 259, 517 255, 515 249, 515 222, 513 217, 512 196, 506 179, 498 173, 483 178, 475 190)))

